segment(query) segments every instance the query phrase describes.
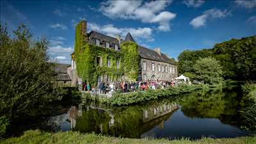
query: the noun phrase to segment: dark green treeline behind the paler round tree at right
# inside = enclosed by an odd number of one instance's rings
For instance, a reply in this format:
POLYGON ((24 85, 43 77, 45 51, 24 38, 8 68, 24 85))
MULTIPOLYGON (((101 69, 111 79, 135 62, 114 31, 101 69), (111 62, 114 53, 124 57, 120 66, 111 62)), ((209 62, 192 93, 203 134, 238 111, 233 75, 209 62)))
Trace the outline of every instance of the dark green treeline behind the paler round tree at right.
POLYGON ((195 74, 196 60, 206 57, 220 61, 225 79, 256 80, 256 35, 222 42, 212 49, 185 50, 178 57, 179 73, 195 74))

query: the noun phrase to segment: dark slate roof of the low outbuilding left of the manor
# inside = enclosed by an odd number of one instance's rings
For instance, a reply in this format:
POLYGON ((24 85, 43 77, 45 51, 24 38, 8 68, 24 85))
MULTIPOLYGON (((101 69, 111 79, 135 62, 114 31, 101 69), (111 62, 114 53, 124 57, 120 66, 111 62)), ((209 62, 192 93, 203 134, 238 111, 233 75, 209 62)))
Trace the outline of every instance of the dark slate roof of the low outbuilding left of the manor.
POLYGON ((67 73, 67 68, 71 66, 70 64, 55 63, 54 65, 54 72, 57 74, 57 81, 71 81, 67 73))

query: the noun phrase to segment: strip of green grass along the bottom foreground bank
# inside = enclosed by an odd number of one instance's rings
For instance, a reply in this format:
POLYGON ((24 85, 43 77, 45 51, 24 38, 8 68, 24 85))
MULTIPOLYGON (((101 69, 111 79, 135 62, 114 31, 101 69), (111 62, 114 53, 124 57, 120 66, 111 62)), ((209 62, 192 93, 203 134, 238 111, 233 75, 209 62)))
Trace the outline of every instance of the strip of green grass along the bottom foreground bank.
POLYGON ((202 138, 201 140, 150 140, 150 139, 130 139, 130 138, 113 138, 108 136, 102 136, 99 134, 81 134, 79 132, 58 132, 49 133, 36 131, 26 131, 19 138, 8 138, 0 141, 0 143, 132 143, 132 144, 162 144, 162 143, 176 143, 176 144, 211 144, 211 143, 232 143, 232 144, 255 144, 256 136, 254 137, 241 137, 241 138, 202 138))

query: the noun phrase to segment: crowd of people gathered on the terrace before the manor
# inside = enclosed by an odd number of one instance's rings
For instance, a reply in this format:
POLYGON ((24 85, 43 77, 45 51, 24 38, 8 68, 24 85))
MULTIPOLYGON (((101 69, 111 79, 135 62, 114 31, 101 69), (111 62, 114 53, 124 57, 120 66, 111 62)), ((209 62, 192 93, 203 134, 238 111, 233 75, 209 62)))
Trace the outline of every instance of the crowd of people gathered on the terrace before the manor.
POLYGON ((99 92, 99 93, 108 93, 109 91, 113 92, 136 92, 136 91, 143 91, 143 90, 156 90, 161 88, 167 88, 167 87, 174 87, 175 84, 177 84, 177 81, 159 81, 158 79, 156 81, 136 81, 136 82, 128 82, 128 81, 122 81, 122 82, 115 82, 115 83, 105 83, 100 82, 97 87, 92 88, 90 83, 83 83, 83 90, 89 91, 89 92, 99 92))

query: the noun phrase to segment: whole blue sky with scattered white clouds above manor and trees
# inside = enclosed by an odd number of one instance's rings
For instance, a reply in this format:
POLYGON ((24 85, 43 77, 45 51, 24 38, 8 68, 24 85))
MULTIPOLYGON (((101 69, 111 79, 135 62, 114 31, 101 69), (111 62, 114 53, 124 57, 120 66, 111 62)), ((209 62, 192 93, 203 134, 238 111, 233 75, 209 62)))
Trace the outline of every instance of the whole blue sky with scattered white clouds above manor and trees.
POLYGON ((52 61, 71 63, 75 26, 109 36, 128 32, 136 42, 175 58, 180 52, 256 35, 256 0, 251 1, 1 1, 1 25, 26 24, 35 38, 49 40, 52 61))

